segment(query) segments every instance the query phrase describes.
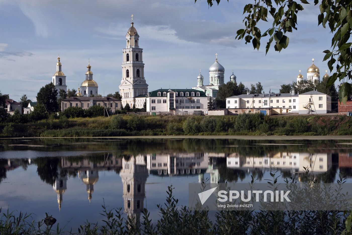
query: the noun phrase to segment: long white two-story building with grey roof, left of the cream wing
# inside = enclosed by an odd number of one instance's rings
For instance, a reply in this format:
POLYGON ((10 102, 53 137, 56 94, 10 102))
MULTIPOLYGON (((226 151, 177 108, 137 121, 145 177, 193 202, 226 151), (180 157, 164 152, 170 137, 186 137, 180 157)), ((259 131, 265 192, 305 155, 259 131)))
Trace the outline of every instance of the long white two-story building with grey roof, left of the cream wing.
POLYGON ((298 95, 291 93, 244 94, 226 98, 228 109, 236 108, 282 108, 283 113, 298 113, 298 95))

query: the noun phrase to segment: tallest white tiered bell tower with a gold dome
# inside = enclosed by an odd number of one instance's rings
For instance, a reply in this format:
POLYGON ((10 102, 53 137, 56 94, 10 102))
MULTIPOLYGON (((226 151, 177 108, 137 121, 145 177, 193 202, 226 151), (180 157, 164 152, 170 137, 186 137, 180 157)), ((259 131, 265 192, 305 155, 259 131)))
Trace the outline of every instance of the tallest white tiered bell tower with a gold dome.
POLYGON ((144 78, 143 49, 139 48, 138 40, 139 35, 132 19, 126 34, 126 48, 122 49, 122 79, 119 89, 124 107, 128 103, 132 108, 136 104, 136 97, 148 92, 148 84, 144 78))

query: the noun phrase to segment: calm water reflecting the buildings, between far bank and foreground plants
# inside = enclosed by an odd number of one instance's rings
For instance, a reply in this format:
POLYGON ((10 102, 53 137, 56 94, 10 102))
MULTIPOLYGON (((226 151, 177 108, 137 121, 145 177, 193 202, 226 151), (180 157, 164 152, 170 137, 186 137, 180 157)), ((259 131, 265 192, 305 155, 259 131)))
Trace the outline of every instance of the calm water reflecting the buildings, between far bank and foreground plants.
POLYGON ((45 212, 66 230, 102 219, 101 205, 158 219, 172 185, 188 204, 188 183, 300 180, 352 182, 350 140, 7 139, 0 140, 0 207, 45 212))

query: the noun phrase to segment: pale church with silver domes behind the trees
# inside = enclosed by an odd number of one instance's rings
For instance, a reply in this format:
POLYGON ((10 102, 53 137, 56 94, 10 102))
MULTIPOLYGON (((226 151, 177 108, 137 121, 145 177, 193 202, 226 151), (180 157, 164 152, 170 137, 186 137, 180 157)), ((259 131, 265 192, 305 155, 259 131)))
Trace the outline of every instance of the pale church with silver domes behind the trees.
MULTIPOLYGON (((209 85, 204 85, 204 77, 199 71, 197 77, 197 86, 192 89, 205 92, 208 97, 216 98, 218 95, 219 87, 225 84, 224 73, 225 68, 218 62, 218 53, 215 54, 215 62, 209 67, 209 85)), ((233 74, 230 76, 231 82, 236 82, 236 76, 233 74)))

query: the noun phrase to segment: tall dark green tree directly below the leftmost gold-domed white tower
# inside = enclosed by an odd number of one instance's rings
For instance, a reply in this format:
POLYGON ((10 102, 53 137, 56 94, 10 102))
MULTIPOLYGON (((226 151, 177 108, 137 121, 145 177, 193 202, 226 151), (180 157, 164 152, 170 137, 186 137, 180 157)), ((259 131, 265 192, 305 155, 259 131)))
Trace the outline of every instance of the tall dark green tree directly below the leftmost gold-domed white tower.
POLYGON ((53 83, 46 84, 40 88, 37 94, 37 102, 43 104, 48 113, 57 112, 57 90, 53 83))

